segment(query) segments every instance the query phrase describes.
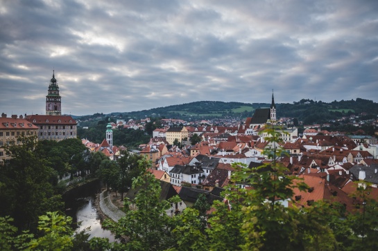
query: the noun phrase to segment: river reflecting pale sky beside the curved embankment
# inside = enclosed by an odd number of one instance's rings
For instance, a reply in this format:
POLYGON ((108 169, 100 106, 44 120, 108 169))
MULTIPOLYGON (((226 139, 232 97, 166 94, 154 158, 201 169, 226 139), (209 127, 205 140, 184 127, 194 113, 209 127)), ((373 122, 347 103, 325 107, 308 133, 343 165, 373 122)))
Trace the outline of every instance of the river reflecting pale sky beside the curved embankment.
POLYGON ((114 235, 101 227, 100 214, 95 207, 96 194, 99 192, 101 192, 101 185, 96 182, 69 193, 65 196, 66 214, 72 217, 74 223, 81 222, 81 225, 76 229, 77 232, 90 227, 87 232, 90 234, 89 239, 106 237, 112 242, 114 235))

